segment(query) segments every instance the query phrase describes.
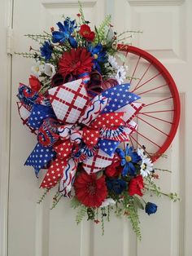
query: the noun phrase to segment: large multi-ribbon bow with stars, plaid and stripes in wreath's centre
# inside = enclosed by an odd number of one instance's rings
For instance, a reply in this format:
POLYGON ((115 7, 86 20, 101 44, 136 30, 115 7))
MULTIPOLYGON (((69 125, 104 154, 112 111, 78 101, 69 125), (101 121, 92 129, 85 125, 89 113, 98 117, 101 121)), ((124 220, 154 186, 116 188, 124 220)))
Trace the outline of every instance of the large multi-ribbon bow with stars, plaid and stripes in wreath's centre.
POLYGON ((79 79, 48 90, 51 106, 19 96, 22 108, 28 106, 25 122, 38 139, 25 165, 36 174, 50 166, 41 188, 59 183, 59 192, 70 196, 80 162, 88 174, 111 165, 118 145, 137 129, 132 119, 142 108, 129 86, 114 86, 90 100, 86 82, 79 79))

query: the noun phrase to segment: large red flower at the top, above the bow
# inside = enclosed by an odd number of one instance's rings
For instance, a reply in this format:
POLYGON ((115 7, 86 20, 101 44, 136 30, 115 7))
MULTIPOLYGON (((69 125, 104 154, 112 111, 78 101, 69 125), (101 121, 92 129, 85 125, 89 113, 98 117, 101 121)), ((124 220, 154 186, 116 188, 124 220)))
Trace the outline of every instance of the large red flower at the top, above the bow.
POLYGON ((63 53, 59 60, 59 73, 65 77, 68 74, 74 76, 81 73, 91 72, 93 58, 85 48, 78 47, 63 53))

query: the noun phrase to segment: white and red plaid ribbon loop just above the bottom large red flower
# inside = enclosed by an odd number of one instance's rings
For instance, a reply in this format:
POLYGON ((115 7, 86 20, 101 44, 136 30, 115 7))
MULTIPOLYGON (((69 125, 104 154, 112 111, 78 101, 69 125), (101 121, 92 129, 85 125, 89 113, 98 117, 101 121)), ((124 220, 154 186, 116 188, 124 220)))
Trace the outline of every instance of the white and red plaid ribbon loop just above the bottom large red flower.
POLYGON ((97 173, 99 170, 110 166, 114 155, 109 157, 103 150, 98 149, 94 157, 87 158, 83 163, 83 168, 88 174, 97 173))

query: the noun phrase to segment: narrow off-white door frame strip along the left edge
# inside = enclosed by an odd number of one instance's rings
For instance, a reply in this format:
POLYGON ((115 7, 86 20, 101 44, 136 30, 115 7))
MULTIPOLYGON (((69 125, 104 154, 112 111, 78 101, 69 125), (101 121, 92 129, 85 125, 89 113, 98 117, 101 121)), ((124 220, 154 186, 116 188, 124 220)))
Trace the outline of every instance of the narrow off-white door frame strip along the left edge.
POLYGON ((13 0, 0 2, 0 255, 7 256, 7 226, 9 201, 10 127, 11 127, 11 39, 7 33, 12 28, 13 0), (10 29, 8 29, 10 28, 10 29), (8 52, 9 47, 9 54, 8 52))

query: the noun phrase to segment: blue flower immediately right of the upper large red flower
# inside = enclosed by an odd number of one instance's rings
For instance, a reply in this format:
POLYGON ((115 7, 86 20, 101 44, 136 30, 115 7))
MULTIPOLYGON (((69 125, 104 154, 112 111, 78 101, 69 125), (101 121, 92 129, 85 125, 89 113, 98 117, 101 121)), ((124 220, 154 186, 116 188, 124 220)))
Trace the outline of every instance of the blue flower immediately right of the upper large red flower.
POLYGON ((107 58, 106 51, 103 51, 102 44, 98 43, 97 46, 89 45, 88 51, 94 57, 94 68, 97 69, 98 72, 101 72, 101 67, 99 63, 105 62, 107 58))

